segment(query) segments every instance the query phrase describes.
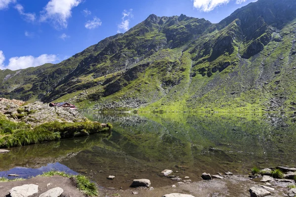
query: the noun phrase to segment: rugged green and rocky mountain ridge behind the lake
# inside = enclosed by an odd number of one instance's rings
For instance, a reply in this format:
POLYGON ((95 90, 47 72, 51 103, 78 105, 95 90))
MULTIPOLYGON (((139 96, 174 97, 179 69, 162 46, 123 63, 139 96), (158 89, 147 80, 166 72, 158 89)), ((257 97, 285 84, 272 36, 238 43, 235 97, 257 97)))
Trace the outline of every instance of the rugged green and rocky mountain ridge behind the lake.
POLYGON ((295 36, 295 0, 258 0, 218 24, 152 14, 59 64, 0 70, 0 97, 100 110, 296 110, 295 36))

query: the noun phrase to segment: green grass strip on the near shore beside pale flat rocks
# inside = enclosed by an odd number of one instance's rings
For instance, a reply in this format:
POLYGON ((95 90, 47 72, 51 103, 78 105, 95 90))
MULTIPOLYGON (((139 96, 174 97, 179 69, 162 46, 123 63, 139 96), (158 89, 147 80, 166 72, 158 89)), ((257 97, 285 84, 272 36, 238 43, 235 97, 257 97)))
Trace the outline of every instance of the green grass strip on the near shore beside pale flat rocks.
POLYGON ((78 190, 86 194, 87 196, 93 197, 98 196, 98 189, 95 183, 92 183, 86 176, 83 175, 70 175, 60 171, 49 171, 44 172, 41 176, 62 176, 74 179, 78 190))

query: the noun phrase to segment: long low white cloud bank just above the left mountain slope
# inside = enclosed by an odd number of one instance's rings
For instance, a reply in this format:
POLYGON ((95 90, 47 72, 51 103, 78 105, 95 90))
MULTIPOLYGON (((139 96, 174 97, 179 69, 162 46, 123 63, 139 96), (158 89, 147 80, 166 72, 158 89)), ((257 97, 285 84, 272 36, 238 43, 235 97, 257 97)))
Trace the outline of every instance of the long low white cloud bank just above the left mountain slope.
POLYGON ((10 70, 18 70, 24 69, 27 67, 35 67, 44 65, 46 63, 56 63, 58 58, 56 55, 47 55, 43 54, 39 57, 33 56, 21 56, 21 57, 13 57, 9 59, 9 63, 7 66, 4 65, 5 56, 3 51, 0 51, 0 69, 10 69, 10 70))

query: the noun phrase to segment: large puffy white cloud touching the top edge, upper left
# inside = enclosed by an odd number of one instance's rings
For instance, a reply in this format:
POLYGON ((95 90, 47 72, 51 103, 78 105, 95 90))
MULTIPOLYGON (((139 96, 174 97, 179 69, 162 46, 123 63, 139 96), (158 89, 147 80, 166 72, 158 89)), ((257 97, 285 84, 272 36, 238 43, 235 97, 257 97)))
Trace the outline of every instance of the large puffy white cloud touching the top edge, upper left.
POLYGON ((72 9, 82 0, 50 0, 41 12, 40 21, 51 21, 55 28, 67 28, 72 9))

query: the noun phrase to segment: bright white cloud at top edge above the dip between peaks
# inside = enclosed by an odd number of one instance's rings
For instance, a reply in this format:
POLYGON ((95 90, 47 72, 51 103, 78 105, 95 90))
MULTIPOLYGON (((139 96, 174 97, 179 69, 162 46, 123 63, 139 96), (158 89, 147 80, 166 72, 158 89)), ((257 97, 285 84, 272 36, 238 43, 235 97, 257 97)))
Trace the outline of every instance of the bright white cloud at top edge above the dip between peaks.
MULTIPOLYGON (((241 4, 247 0, 236 0, 237 4, 241 4)), ((197 9, 200 9, 204 12, 209 12, 215 9, 216 7, 229 3, 230 0, 194 0, 193 6, 197 9)))

